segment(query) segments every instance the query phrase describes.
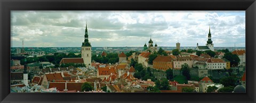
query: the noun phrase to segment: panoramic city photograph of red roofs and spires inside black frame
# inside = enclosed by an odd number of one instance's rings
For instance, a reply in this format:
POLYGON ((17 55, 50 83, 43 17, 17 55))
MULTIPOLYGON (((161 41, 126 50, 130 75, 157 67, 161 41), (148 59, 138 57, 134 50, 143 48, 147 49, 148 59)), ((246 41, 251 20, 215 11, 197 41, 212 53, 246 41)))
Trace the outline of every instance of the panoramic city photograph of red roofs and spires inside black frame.
POLYGON ((245 93, 245 11, 11 11, 15 93, 245 93))

